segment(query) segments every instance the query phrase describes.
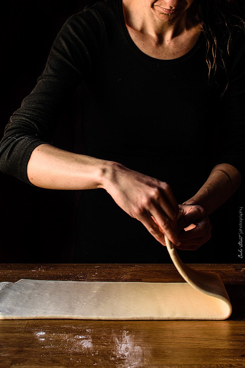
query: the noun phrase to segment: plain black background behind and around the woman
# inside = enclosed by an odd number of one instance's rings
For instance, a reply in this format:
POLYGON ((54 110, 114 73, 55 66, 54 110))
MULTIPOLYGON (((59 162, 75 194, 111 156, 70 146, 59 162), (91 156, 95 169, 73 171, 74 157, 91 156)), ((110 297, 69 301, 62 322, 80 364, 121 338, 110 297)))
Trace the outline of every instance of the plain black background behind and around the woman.
MULTIPOLYGON (((3 13, 1 86, 3 92, 0 138, 12 113, 34 88, 42 73, 55 36, 67 18, 82 11, 93 0, 8 1, 3 13)), ((68 103, 53 144, 78 152, 79 91, 68 103)), ((82 153, 82 152, 81 152, 82 153)), ((79 191, 56 191, 28 185, 0 172, 0 262, 69 262, 73 252, 73 223, 79 191)), ((226 254, 216 232, 220 263, 243 262, 238 258, 238 207, 244 205, 241 188, 230 206, 219 209, 218 217, 231 218, 226 254), (228 213, 229 208, 231 213, 228 213), (225 213, 224 213, 225 212, 225 213), (236 218, 237 216, 237 218, 236 218)), ((245 208, 244 208, 245 212, 245 208)), ((212 217, 212 216, 211 216, 212 217)), ((220 220, 221 221, 221 220, 220 220)), ((245 229, 245 226, 244 226, 245 229)), ((224 238, 224 234, 222 234, 224 238)), ((216 249, 216 254, 217 254, 216 249)), ((244 255, 245 257, 245 255, 244 255)), ((217 257, 215 262, 217 262, 217 257)), ((210 255, 212 263, 212 255, 210 255)))

